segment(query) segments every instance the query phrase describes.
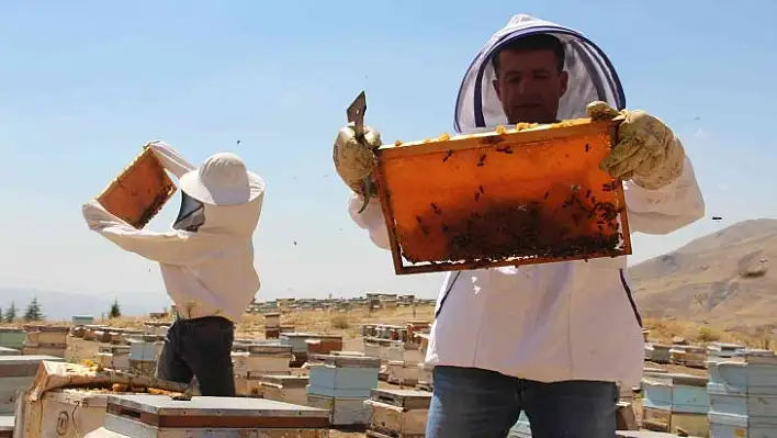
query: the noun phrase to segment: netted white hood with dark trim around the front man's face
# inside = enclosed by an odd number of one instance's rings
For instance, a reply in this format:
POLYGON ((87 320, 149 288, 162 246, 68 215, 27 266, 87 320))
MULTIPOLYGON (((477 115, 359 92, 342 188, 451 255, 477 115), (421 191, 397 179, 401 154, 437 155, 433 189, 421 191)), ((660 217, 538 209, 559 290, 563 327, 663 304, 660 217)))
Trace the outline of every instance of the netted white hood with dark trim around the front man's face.
POLYGON ((568 89, 559 102, 559 120, 585 117, 588 103, 601 100, 626 108, 626 97, 612 64, 590 40, 562 25, 530 15, 515 15, 477 53, 459 90, 454 128, 468 133, 506 124, 507 117, 494 91, 492 57, 510 42, 536 34, 550 34, 564 45, 568 89))

